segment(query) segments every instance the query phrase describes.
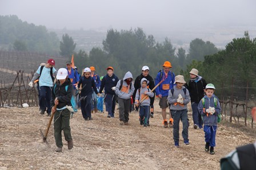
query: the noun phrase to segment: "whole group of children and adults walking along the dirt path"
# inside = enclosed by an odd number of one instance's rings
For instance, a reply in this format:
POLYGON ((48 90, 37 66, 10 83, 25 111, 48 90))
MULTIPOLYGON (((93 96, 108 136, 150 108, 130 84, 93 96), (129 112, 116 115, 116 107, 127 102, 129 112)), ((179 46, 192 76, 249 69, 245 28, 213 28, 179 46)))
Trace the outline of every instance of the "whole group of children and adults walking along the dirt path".
MULTIPOLYGON (((34 74, 30 86, 39 78, 41 114, 45 111, 48 115, 54 114, 54 136, 58 152, 62 151, 61 131, 63 130, 68 148, 73 147, 69 118, 71 98, 80 97, 82 116, 85 121, 93 119, 91 113, 97 112, 97 95, 105 93, 105 105, 107 118, 114 118, 115 103, 119 104, 119 121, 121 125, 129 125, 129 112, 134 103, 139 111, 139 123, 144 127, 150 126, 149 119, 154 117, 154 98, 159 98, 159 106, 162 111, 163 127, 173 127, 174 146, 179 147, 179 121, 182 122, 183 142, 189 144, 189 119, 187 117, 187 103, 191 100, 193 109, 194 128, 202 128, 205 131, 205 151, 214 154, 215 135, 217 130, 217 118, 221 108, 218 98, 214 96, 214 85, 206 84, 206 81, 198 76, 197 69, 190 72, 189 84, 186 84, 182 75, 175 76, 170 71, 171 63, 165 61, 163 69, 158 72, 155 81, 149 75, 149 67, 142 67, 142 73, 133 81, 131 72, 127 72, 122 80, 114 74, 113 67, 107 67, 107 74, 100 80, 95 74, 94 67, 83 69, 79 76, 71 63, 66 63, 66 68, 57 70, 55 61, 49 59, 47 64, 40 66, 34 74), (53 85, 53 78, 57 78, 53 85), (53 88, 54 86, 54 88, 53 88), (206 95, 204 96, 204 93, 206 95), (79 95, 77 95, 79 94, 79 95), (96 98, 96 99, 95 99, 96 98), (202 98, 205 98, 202 100, 202 98), (216 102, 217 101, 217 102, 216 102), (96 104, 95 104, 96 103, 96 104), (57 105, 57 109, 53 106, 57 105), (166 109, 170 107, 170 119, 167 122, 166 109), (203 117, 203 121, 202 121, 203 117)), ((78 102, 77 102, 78 104, 78 102)), ((77 106, 73 107, 73 111, 77 106)))

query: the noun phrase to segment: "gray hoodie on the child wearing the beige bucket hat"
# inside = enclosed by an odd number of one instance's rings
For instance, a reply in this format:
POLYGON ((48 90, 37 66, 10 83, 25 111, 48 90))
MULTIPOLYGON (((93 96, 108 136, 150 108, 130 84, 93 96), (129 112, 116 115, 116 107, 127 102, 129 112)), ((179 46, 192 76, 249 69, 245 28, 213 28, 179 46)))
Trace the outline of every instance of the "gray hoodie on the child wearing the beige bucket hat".
MULTIPOLYGON (((182 86, 182 89, 184 89, 185 87, 182 86)), ((168 97, 167 97, 167 101, 168 103, 171 104, 171 107, 170 109, 171 110, 184 110, 184 109, 187 109, 187 103, 190 102, 190 96, 189 96, 189 90, 187 90, 186 92, 186 96, 183 92, 182 89, 178 89, 176 86, 174 86, 174 92, 173 94, 171 94, 171 90, 169 90, 169 94, 168 94, 168 97), (183 98, 183 104, 184 106, 181 106, 179 104, 175 105, 175 103, 177 102, 177 99, 179 98, 179 94, 181 94, 182 98, 183 98)))

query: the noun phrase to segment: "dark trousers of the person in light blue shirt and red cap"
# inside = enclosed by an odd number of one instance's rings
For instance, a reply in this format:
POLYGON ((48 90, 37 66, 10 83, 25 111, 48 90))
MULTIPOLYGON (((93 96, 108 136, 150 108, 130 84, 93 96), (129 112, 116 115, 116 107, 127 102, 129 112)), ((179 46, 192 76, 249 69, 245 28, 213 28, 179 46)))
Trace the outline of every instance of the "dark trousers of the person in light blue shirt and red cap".
POLYGON ((40 86, 40 99, 39 106, 42 110, 47 110, 46 112, 51 113, 51 87, 49 86, 40 86))

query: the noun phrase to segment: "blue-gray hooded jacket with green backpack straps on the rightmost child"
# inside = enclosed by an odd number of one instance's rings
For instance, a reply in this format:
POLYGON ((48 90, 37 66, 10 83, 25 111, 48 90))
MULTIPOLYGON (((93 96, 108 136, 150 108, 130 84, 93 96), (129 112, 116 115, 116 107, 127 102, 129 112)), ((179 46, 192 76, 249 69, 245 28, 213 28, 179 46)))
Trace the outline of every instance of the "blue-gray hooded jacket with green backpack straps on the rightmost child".
POLYGON ((221 114, 221 106, 219 105, 219 99, 214 94, 211 98, 207 97, 206 95, 203 98, 205 98, 205 107, 203 107, 202 99, 198 105, 198 111, 203 116, 203 124, 206 126, 217 126, 218 114, 221 114), (214 97, 217 99, 217 107, 215 107, 214 97), (209 106, 215 107, 215 113, 213 115, 208 114, 207 116, 205 110, 209 109, 209 106))

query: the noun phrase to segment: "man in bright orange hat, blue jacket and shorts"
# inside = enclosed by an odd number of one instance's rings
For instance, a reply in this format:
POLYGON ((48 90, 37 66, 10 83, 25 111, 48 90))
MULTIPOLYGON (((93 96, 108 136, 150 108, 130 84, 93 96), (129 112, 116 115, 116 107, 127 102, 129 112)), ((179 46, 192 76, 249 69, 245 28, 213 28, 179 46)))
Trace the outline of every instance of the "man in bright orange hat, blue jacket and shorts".
MULTIPOLYGON (((155 85, 163 80, 163 82, 155 89, 155 94, 160 98, 159 106, 162 109, 162 117, 163 117, 163 127, 168 127, 168 122, 166 118, 166 108, 169 107, 167 103, 167 96, 170 89, 173 88, 174 81, 175 81, 175 74, 170 71, 171 63, 169 61, 165 61, 162 65, 162 71, 158 72, 157 78, 155 78, 155 85)), ((173 118, 171 118, 170 113, 170 120, 169 126, 173 125, 173 118)))

